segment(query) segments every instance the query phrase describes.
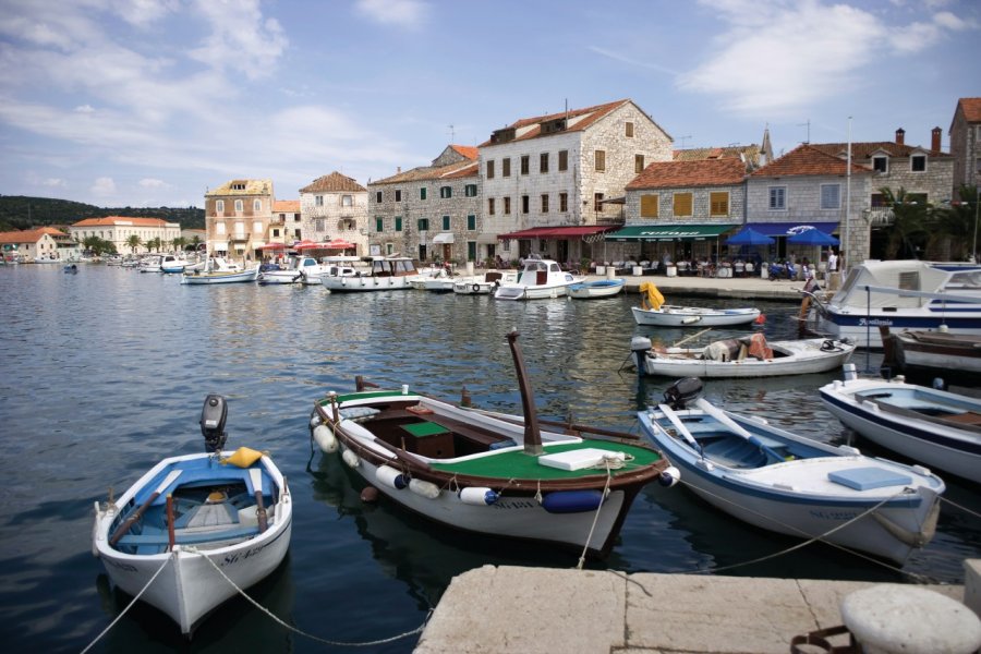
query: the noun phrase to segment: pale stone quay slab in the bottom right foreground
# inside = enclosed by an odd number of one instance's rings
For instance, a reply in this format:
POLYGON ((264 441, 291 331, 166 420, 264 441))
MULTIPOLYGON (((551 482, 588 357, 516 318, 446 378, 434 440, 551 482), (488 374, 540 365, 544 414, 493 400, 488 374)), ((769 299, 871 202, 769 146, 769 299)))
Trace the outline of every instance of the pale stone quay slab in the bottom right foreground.
MULTIPOLYGON (((981 560, 965 572, 965 585, 916 588, 979 614, 981 560)), ((452 580, 415 654, 786 654, 794 637, 843 625, 841 601, 875 585, 484 566, 452 580)))

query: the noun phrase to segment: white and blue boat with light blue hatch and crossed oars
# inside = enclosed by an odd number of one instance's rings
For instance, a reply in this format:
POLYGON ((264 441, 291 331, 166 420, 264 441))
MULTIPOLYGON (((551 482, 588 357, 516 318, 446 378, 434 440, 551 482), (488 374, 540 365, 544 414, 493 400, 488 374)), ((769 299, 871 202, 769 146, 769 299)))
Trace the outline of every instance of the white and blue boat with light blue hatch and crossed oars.
POLYGON ((933 537, 944 482, 724 411, 687 377, 641 411, 641 431, 705 501, 749 524, 903 562, 933 537), (693 408, 689 408, 693 404, 693 408))

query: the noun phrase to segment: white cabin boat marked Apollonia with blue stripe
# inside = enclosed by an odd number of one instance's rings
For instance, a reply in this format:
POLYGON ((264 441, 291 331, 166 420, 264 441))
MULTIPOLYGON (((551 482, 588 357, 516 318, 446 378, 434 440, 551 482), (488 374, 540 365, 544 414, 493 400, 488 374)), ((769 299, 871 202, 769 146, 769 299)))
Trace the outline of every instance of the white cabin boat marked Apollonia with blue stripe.
POLYGON ((823 302, 812 298, 814 330, 859 348, 881 344, 876 329, 981 336, 981 266, 921 261, 867 261, 823 302))

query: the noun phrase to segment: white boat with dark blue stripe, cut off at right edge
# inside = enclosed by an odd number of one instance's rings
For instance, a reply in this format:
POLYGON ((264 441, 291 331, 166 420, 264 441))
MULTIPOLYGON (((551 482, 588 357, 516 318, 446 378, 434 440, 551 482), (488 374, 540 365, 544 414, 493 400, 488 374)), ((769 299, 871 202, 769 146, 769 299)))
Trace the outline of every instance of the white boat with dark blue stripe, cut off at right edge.
POLYGON ((859 377, 855 364, 820 391, 827 410, 869 440, 981 483, 981 400, 901 378, 859 377))

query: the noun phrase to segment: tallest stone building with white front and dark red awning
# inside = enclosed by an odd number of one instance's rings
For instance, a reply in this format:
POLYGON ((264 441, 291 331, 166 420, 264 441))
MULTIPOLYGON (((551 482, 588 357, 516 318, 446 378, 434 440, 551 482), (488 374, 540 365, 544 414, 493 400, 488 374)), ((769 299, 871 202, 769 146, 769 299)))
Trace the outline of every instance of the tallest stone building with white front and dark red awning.
POLYGON ((623 223, 627 184, 670 160, 671 137, 629 99, 521 119, 480 145, 481 242, 579 266, 595 257, 583 239, 623 223))

